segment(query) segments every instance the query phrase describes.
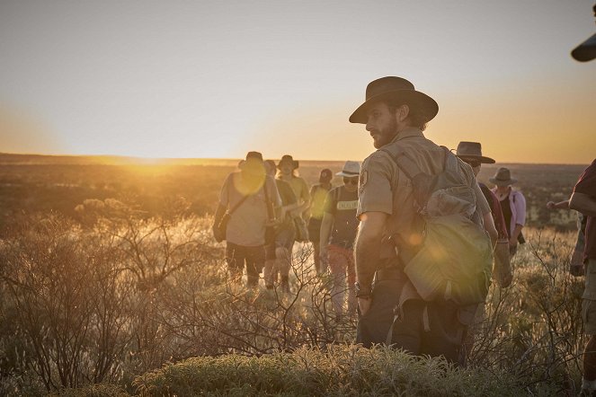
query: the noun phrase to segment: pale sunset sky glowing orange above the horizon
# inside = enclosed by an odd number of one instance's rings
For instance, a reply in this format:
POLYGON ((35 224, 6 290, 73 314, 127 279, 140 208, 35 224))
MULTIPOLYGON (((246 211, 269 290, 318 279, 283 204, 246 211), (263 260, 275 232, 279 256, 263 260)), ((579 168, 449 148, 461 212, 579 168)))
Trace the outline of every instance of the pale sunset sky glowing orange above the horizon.
POLYGON ((590 163, 593 3, 0 0, 0 152, 362 160, 348 117, 399 75, 440 145, 590 163))

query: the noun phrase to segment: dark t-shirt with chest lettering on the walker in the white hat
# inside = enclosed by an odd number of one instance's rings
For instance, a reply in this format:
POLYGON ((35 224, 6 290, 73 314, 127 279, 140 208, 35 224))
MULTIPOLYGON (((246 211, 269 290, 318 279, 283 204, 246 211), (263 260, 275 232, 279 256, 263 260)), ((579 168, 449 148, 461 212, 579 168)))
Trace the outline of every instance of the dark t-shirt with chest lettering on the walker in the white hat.
POLYGON ((330 243, 351 248, 358 231, 358 190, 348 191, 339 186, 329 191, 325 199, 325 212, 334 216, 330 243))

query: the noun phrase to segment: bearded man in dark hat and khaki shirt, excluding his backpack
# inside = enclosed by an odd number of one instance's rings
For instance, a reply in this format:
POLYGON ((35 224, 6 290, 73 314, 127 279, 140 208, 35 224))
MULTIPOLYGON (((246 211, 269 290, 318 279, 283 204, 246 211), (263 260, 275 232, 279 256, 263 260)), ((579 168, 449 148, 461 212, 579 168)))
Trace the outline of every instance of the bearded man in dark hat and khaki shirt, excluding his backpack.
MULTIPOLYGON (((437 102, 416 91, 414 84, 388 76, 367 86, 366 101, 351 114, 350 121, 366 125, 375 148, 399 148, 423 172, 437 174, 443 171, 448 154, 424 137, 423 130, 438 111, 437 102)), ((463 162, 458 161, 458 167, 476 192, 475 216, 484 219, 485 230, 495 243, 493 216, 474 173, 463 162)), ((443 356, 457 363, 476 305, 467 308, 451 301, 426 302, 405 275, 411 252, 408 244, 423 241, 422 219, 415 207, 412 182, 385 150, 370 154, 362 163, 357 216, 357 342, 365 347, 390 343, 414 355, 443 356)))

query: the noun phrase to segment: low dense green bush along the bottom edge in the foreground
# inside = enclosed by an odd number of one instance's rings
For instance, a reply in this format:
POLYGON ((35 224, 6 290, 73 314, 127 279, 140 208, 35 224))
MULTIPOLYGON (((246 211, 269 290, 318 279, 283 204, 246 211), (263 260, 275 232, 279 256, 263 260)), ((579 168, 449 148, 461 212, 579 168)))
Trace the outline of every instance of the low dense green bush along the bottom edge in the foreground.
POLYGON ((511 375, 463 370, 442 359, 354 345, 299 348, 263 357, 195 357, 139 376, 140 395, 519 396, 511 375))

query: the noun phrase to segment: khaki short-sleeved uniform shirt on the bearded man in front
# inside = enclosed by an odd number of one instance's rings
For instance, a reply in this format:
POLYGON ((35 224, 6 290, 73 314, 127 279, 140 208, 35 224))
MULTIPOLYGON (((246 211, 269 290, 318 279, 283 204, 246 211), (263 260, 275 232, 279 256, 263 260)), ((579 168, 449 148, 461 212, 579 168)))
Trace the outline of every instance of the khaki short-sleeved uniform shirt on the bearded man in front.
MULTIPOLYGON (((443 171, 445 150, 423 136, 418 128, 401 131, 388 146, 397 145, 407 153, 421 171, 437 174, 443 171)), ((381 148, 383 149, 383 148, 381 148)), ((412 181, 397 168, 390 154, 377 150, 364 160, 360 170, 359 207, 357 216, 367 212, 384 212, 388 215, 386 229, 381 241, 380 260, 396 257, 395 244, 389 238, 416 243, 422 239, 420 216, 414 207, 412 181)), ((469 165, 458 160, 460 172, 476 193, 476 214, 482 216, 490 212, 482 190, 478 187, 474 172, 469 165)))

